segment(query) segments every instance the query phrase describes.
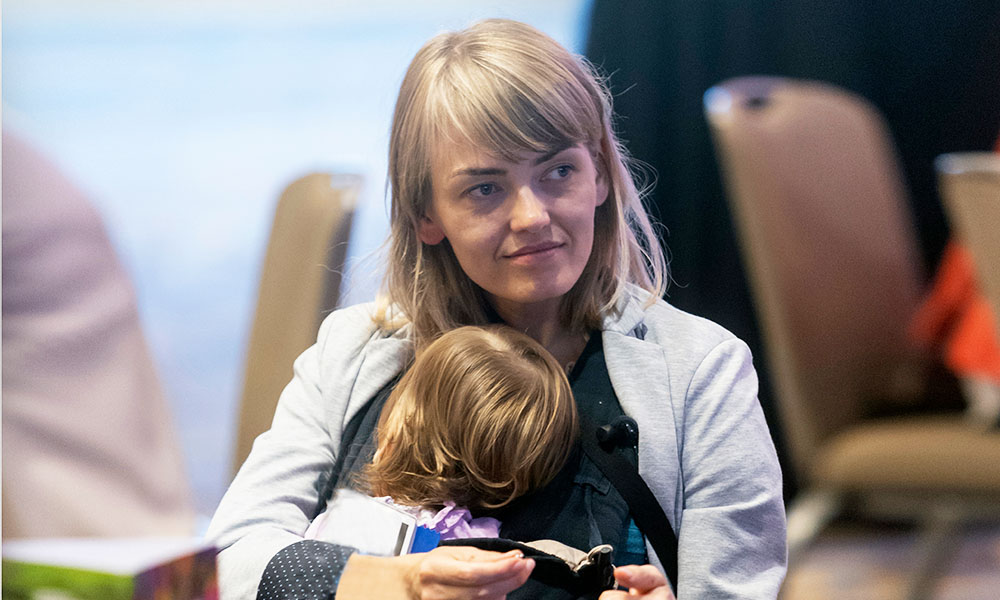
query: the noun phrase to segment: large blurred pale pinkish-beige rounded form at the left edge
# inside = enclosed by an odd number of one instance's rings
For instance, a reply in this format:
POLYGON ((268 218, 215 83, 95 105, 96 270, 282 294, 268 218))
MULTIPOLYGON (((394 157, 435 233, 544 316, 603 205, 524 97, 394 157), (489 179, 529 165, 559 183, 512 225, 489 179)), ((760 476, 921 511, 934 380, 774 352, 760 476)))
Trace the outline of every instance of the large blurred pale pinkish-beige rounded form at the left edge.
POLYGON ((3 538, 191 535, 181 452, 97 211, 3 133, 3 538))

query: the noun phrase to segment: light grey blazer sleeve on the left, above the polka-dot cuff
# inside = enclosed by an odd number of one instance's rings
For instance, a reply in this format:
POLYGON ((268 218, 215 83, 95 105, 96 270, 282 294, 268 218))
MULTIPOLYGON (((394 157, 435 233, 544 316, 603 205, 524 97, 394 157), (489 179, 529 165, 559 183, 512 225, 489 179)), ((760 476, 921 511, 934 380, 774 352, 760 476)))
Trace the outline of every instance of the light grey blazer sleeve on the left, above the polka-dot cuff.
MULTIPOLYGON (((323 322, 317 343, 295 361, 271 429, 254 442, 219 504, 206 537, 220 549, 218 577, 224 600, 256 598, 272 558, 303 540, 340 439, 339 428, 330 430, 330 423, 337 422, 330 412, 346 406, 357 375, 364 344, 364 336, 357 335, 358 322, 350 310, 337 311, 323 322), (338 385, 322 384, 331 380, 338 385)), ((330 553, 316 543, 300 544, 295 551, 302 549, 330 553)), ((268 571, 275 572, 275 567, 268 571)), ((330 585, 335 587, 335 579, 330 585)))

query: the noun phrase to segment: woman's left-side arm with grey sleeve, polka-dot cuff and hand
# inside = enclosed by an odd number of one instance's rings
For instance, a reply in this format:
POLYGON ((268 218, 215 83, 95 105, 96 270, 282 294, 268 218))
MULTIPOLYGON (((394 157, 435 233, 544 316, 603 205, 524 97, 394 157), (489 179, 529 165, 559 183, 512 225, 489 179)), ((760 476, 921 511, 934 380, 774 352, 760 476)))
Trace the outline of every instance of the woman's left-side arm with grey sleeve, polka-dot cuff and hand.
POLYGON ((369 314, 354 307, 328 317, 316 345, 295 361, 271 429, 254 442, 209 527, 221 550, 224 600, 371 598, 376 589, 405 589, 407 598, 499 598, 528 578, 534 561, 476 548, 381 558, 303 539, 334 464, 348 396, 376 393, 384 382, 366 373, 388 381, 405 363, 403 353, 377 350, 388 341, 396 340, 373 338, 369 314))

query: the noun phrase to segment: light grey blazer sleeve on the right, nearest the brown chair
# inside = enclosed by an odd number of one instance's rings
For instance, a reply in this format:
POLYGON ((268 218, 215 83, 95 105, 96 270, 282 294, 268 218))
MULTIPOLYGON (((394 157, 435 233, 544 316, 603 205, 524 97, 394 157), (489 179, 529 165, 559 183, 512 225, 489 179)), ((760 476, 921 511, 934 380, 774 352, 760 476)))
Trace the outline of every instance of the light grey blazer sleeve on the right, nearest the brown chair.
POLYGON ((786 565, 782 477, 742 341, 708 352, 684 406, 678 597, 773 599, 786 565))

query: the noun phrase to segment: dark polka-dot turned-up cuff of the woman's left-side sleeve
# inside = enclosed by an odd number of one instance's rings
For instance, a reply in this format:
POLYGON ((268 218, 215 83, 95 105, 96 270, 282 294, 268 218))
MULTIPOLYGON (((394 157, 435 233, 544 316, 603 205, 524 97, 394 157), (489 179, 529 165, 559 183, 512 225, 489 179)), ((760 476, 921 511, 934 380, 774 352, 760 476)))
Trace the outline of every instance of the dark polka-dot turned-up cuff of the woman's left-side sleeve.
POLYGON ((264 569, 257 600, 330 600, 353 548, 303 540, 282 549, 264 569))

